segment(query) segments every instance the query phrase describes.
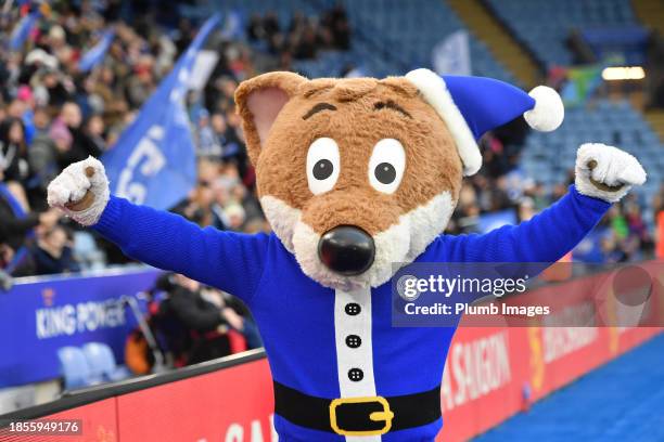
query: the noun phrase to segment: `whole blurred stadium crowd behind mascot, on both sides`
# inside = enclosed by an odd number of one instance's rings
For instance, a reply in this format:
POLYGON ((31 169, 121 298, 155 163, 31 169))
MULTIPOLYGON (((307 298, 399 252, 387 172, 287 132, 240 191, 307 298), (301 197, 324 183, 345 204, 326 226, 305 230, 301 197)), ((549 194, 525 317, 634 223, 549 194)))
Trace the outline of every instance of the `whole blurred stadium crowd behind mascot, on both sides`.
MULTIPOLYGON (((126 23, 118 18, 118 2, 106 2, 102 10, 94 4, 54 3, 21 50, 10 51, 3 44, 0 52, 0 268, 13 275, 74 272, 127 261, 114 246, 50 210, 46 188, 68 164, 113 148, 195 35, 195 26, 186 20, 167 34, 151 14, 126 23), (116 38, 105 60, 81 72, 81 54, 111 23, 116 38)), ((0 20, 4 42, 17 14, 14 9, 0 20)), ((295 14, 288 28, 280 28, 274 14, 253 16, 244 31, 246 41, 216 42, 220 58, 207 86, 188 95, 199 180, 173 210, 201 225, 258 232, 269 225, 256 198, 234 89, 261 70, 255 63, 265 55, 257 53, 260 43, 277 60, 276 66, 289 68, 291 60, 316 57, 323 49, 348 49, 352 34, 342 8, 318 18, 295 14)), ((483 213, 497 210, 512 209, 519 220, 528 219, 566 192, 565 186, 547 191, 519 174, 519 141, 496 133, 483 144, 485 165, 467 181, 450 232, 474 231, 483 213)), ((663 202, 661 195, 660 212, 663 202)), ((600 226, 600 260, 639 259, 652 249, 653 233, 640 213, 634 197, 611 210, 600 226)))

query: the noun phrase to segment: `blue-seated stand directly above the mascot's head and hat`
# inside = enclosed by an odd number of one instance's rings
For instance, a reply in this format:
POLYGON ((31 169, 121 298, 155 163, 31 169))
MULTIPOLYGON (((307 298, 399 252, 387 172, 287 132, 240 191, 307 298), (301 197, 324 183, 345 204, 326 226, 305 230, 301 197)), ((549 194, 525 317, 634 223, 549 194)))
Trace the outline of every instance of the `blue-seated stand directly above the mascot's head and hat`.
MULTIPOLYGON (((215 8, 233 9, 251 15, 257 11, 274 11, 282 27, 288 27, 293 10, 306 15, 342 4, 353 24, 353 48, 346 53, 329 52, 315 61, 295 64, 296 70, 316 77, 339 76, 347 65, 354 65, 376 77, 403 75, 416 67, 431 67, 431 51, 448 35, 464 29, 457 14, 437 0, 283 2, 224 1, 215 8)), ((471 36, 470 51, 473 75, 494 77, 519 83, 490 54, 486 46, 471 36)))

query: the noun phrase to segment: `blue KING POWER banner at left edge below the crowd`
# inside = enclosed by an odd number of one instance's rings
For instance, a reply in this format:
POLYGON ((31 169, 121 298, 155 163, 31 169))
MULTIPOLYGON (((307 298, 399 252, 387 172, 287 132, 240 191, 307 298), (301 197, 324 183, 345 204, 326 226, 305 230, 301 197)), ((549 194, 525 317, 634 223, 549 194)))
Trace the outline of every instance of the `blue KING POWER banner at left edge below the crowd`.
POLYGON ((158 271, 106 271, 95 276, 28 277, 0 292, 0 388, 60 376, 58 349, 98 341, 118 361, 138 323, 120 299, 150 289, 158 271))

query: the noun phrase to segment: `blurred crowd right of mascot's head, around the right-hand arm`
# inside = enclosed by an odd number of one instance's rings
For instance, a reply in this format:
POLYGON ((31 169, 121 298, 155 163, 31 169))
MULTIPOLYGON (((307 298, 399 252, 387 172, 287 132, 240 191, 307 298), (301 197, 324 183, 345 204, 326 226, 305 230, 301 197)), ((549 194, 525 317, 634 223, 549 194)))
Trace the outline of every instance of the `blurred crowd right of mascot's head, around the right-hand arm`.
MULTIPOLYGON (((569 171, 564 184, 550 190, 535 178, 525 176, 516 166, 520 143, 509 140, 509 144, 503 144, 501 141, 520 132, 513 126, 506 127, 501 131, 505 133, 489 133, 482 140, 483 169, 477 176, 467 179, 448 230, 455 233, 477 231, 483 213, 500 211, 513 211, 516 221, 527 221, 561 198, 574 182, 573 170, 569 171)), ((655 218, 664 219, 664 185, 652 204, 655 218)), ((635 193, 614 204, 589 238, 575 250, 576 259, 591 263, 618 263, 640 261, 655 252, 654 232, 648 227, 641 200, 635 193)), ((662 243, 657 247, 656 253, 661 257, 662 243)))

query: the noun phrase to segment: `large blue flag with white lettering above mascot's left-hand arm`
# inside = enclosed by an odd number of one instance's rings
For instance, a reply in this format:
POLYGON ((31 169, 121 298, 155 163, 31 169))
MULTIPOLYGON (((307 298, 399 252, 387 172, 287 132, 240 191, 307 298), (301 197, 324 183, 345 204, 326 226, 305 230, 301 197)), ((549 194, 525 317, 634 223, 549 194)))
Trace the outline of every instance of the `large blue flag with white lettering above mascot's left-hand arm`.
POLYGON ((216 14, 205 22, 136 120, 101 158, 113 194, 169 209, 195 185, 196 157, 184 95, 196 54, 219 20, 216 14))

